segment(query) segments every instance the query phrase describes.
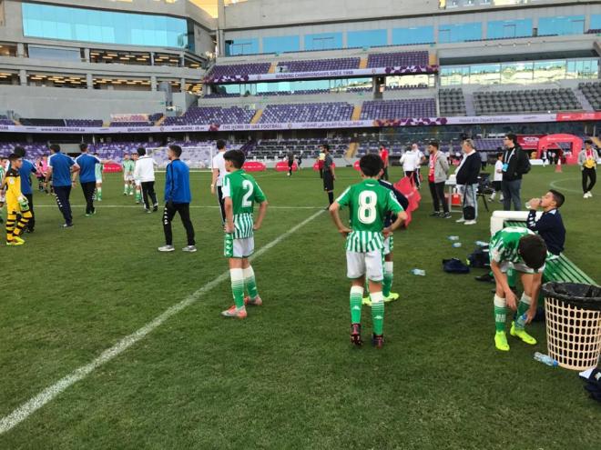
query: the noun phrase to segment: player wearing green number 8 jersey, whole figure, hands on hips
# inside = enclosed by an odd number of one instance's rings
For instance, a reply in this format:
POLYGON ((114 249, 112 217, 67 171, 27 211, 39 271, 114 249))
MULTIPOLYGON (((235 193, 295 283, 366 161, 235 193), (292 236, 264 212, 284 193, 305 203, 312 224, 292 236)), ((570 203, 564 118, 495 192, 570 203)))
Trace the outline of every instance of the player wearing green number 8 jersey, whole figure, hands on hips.
POLYGON ((361 311, 365 278, 369 280, 372 297, 372 344, 384 344, 384 297, 382 295, 382 250, 384 239, 407 218, 402 206, 390 189, 378 182, 382 172, 379 155, 362 156, 359 167, 362 183, 351 185, 331 205, 330 213, 338 231, 346 236, 347 276, 351 279, 351 343, 362 345, 361 311), (351 228, 342 225, 339 211, 349 206, 351 228), (384 227, 384 217, 396 214, 392 225, 384 227))

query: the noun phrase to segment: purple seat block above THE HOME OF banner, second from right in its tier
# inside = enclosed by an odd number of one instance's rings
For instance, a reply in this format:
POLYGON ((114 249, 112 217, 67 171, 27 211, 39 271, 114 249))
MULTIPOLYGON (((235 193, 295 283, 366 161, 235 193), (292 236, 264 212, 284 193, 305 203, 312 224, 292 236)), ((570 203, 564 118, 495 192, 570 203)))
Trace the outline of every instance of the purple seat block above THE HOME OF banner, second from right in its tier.
POLYGON ((334 122, 351 120, 353 106, 348 103, 306 103, 298 105, 268 105, 260 124, 288 122, 334 122))

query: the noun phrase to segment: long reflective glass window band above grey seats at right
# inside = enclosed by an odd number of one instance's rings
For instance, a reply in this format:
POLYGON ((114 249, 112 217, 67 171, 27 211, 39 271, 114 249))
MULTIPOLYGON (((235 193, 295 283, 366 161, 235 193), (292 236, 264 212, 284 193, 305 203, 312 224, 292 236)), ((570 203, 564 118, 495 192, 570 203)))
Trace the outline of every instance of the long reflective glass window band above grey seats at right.
POLYGON ((598 58, 560 59, 443 67, 441 85, 537 85, 565 79, 596 79, 598 58))

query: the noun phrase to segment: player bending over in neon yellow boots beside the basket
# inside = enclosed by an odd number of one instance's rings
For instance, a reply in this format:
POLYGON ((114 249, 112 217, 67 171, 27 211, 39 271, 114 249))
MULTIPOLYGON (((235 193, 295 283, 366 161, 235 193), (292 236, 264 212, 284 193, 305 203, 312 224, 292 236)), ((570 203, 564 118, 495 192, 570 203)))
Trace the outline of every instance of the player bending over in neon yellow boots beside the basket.
POLYGON ((536 339, 525 332, 536 314, 536 303, 545 271, 546 245, 543 238, 521 226, 508 226, 498 231, 490 242, 491 269, 496 289, 494 293, 494 324, 496 333, 494 345, 503 352, 509 351, 505 335, 507 305, 515 310, 517 317, 512 322, 510 334, 528 345, 535 345, 536 339), (524 294, 517 297, 507 283, 507 270, 513 268, 520 273, 524 294))

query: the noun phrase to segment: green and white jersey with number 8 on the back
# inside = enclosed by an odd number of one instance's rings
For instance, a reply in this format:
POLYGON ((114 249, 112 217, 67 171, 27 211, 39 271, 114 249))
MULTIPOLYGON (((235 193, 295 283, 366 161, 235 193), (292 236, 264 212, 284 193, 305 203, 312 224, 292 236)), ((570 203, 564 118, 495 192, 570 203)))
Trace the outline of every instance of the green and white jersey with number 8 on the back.
POLYGON ((386 215, 403 210, 392 190, 383 187, 373 178, 351 185, 336 202, 341 206, 349 206, 352 230, 346 239, 346 249, 349 252, 382 250, 382 229, 386 215))

